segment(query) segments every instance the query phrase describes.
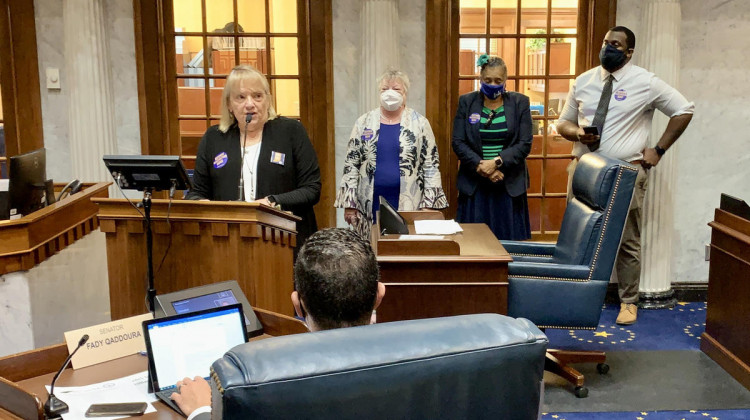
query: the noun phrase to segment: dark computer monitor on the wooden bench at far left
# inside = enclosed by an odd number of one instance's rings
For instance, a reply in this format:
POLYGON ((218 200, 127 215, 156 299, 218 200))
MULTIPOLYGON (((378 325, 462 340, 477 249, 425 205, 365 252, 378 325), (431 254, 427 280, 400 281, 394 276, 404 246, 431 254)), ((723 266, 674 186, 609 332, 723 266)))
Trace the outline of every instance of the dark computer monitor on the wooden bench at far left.
POLYGON ((46 204, 47 153, 42 149, 11 156, 8 217, 31 214, 46 204))

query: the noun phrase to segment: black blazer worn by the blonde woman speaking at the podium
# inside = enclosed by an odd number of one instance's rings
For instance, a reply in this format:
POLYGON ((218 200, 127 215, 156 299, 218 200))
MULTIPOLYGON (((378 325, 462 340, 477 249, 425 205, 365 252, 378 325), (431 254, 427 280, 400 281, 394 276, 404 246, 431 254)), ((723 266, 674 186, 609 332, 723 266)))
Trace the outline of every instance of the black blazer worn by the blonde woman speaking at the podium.
MULTIPOLYGON (((218 126, 206 130, 198 146, 193 189, 187 199, 232 201, 238 198, 242 147, 240 130, 233 125, 226 133, 218 126), (226 154, 222 164, 221 155, 226 154)), ((302 218, 297 223, 297 249, 318 230, 313 205, 320 200, 318 157, 305 128, 296 120, 277 117, 263 127, 258 155, 256 197, 272 196, 283 210, 302 218), (284 163, 271 162, 271 153, 284 155, 284 163)))

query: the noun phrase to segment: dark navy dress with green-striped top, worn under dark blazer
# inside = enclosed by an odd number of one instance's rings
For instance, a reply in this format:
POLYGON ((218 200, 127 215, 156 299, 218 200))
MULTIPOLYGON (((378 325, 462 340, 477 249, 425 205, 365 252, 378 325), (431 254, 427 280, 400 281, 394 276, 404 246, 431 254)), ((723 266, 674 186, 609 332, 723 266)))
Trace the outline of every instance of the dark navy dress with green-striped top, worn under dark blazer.
MULTIPOLYGON (((508 146, 504 106, 494 110, 482 107, 479 123, 482 159, 494 159, 508 146)), ((500 170, 502 172, 502 168, 500 170)), ((492 182, 482 177, 474 195, 459 194, 456 220, 459 223, 485 223, 498 239, 531 238, 526 193, 511 197, 503 181, 492 182)))

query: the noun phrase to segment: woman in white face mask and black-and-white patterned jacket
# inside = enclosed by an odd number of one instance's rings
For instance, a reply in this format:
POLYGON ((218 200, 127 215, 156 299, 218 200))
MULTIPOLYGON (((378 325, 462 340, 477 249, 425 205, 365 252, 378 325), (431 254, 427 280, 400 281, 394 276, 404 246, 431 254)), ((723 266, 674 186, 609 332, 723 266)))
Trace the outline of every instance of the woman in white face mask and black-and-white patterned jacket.
POLYGON ((366 238, 381 196, 399 211, 448 207, 430 123, 405 105, 409 77, 388 70, 378 87, 380 106, 359 117, 352 129, 334 204, 366 238))

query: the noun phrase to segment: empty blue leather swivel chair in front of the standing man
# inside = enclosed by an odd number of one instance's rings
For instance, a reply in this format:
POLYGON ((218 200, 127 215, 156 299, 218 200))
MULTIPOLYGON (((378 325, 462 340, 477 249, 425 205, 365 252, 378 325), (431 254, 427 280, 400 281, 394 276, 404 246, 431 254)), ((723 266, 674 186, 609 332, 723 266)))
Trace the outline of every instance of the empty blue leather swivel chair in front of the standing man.
MULTIPOLYGON (((638 169, 626 162, 588 153, 573 174, 556 244, 502 241, 513 256, 508 266, 508 315, 539 328, 596 329, 612 267, 620 246, 638 169)), ((545 369, 575 385, 586 397, 584 378, 569 363, 598 363, 603 352, 550 350, 545 369)))

